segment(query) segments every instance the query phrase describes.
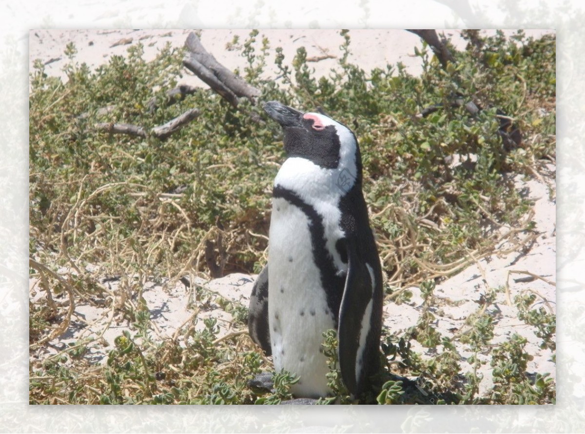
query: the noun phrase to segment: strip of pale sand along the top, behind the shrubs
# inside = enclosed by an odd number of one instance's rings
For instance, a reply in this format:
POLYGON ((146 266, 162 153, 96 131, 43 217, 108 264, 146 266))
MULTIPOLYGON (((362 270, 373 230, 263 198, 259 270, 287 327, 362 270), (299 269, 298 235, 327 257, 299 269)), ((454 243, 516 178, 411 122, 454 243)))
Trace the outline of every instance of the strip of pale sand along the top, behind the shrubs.
MULTIPOLYGON (((108 62, 112 56, 125 56, 128 46, 139 42, 144 46, 144 58, 152 60, 167 43, 173 47, 182 47, 189 32, 191 30, 31 30, 29 67, 32 68, 33 62, 40 59, 46 64, 47 74, 64 78, 62 69, 68 59, 63 52, 70 42, 78 50, 76 60, 86 63, 92 70, 108 62)), ((534 37, 550 32, 552 30, 525 30, 527 36, 534 37)), ((226 49, 226 44, 232 42, 235 36, 243 43, 249 33, 249 30, 206 29, 202 30, 201 42, 223 66, 231 70, 243 70, 246 66, 245 58, 235 56, 233 51, 226 49)), ((494 31, 486 30, 485 33, 492 35, 494 31)), ((505 33, 512 35, 515 30, 505 30, 505 33)), ((466 44, 460 36, 460 30, 439 30, 439 34, 448 37, 457 49, 462 49, 466 44)), ((336 59, 342 55, 339 46, 343 43, 343 38, 339 35, 339 30, 260 30, 260 35, 256 38, 258 49, 263 35, 269 39, 271 49, 283 48, 285 60, 288 59, 289 62, 299 47, 307 49, 308 59, 332 56, 312 63, 318 76, 328 74, 336 65, 336 59)), ((421 73, 420 60, 414 57, 414 47, 421 49, 422 42, 414 33, 405 30, 351 30, 350 36, 352 54, 349 60, 365 71, 402 62, 409 73, 421 73)), ((273 66, 273 70, 266 71, 269 77, 275 77, 276 73, 276 66, 273 66)), ((204 85, 190 73, 185 74, 183 82, 204 85)))

